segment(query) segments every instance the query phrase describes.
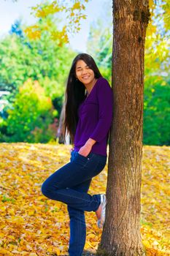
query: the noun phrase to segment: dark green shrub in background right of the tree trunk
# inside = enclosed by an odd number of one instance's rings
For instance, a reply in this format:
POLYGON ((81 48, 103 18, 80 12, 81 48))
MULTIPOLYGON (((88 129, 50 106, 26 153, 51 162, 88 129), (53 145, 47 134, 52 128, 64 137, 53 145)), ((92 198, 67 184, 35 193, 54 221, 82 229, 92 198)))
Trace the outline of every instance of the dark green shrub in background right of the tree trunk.
POLYGON ((170 145, 170 80, 150 78, 144 89, 144 143, 170 145))

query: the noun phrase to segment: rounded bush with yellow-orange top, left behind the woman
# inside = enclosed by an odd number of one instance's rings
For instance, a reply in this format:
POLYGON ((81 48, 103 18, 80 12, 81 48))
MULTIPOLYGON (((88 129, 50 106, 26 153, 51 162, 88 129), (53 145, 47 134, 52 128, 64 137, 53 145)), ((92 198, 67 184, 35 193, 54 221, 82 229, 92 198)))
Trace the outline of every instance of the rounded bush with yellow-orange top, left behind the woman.
POLYGON ((8 110, 9 116, 5 121, 6 142, 47 143, 54 137, 55 130, 51 125, 53 104, 37 81, 33 83, 28 79, 20 86, 12 107, 13 109, 8 110))

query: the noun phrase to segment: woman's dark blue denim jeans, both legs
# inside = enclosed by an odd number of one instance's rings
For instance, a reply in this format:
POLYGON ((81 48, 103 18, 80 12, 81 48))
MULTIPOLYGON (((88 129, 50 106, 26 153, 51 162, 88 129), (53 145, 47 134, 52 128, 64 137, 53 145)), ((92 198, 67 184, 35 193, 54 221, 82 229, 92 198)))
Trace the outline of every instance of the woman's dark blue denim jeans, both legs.
POLYGON ((72 151, 70 162, 56 170, 42 184, 42 194, 67 204, 70 218, 69 255, 81 256, 85 246, 85 211, 96 211, 100 194, 89 195, 92 178, 106 165, 107 157, 90 152, 87 157, 72 151))

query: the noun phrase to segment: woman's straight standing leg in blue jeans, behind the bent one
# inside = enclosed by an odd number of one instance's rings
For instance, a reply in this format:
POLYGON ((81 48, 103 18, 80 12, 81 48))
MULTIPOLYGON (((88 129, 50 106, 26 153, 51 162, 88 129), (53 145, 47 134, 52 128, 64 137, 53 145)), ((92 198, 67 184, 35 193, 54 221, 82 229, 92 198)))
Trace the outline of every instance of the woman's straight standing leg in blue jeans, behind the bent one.
MULTIPOLYGON (((91 179, 72 187, 78 192, 88 192, 91 179)), ((81 256, 86 238, 85 211, 67 206, 70 218, 69 256, 81 256)))

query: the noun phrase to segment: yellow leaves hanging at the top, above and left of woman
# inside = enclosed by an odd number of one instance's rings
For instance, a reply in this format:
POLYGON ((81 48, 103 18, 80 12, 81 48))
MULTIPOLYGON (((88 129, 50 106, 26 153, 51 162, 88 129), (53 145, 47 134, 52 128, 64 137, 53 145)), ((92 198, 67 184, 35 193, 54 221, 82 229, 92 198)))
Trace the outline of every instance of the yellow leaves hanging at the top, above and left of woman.
POLYGON ((85 19, 87 15, 84 14, 85 4, 88 0, 70 1, 69 3, 60 0, 53 0, 51 2, 45 2, 36 4, 31 7, 31 14, 36 18, 42 20, 53 20, 53 26, 47 26, 45 23, 36 23, 32 26, 26 27, 24 32, 29 39, 40 39, 43 31, 48 31, 51 39, 55 40, 59 46, 69 42, 69 32, 77 33, 80 31, 80 21, 85 19), (58 24, 55 22, 55 18, 59 15, 63 15, 65 21, 61 29, 58 28, 58 24))

